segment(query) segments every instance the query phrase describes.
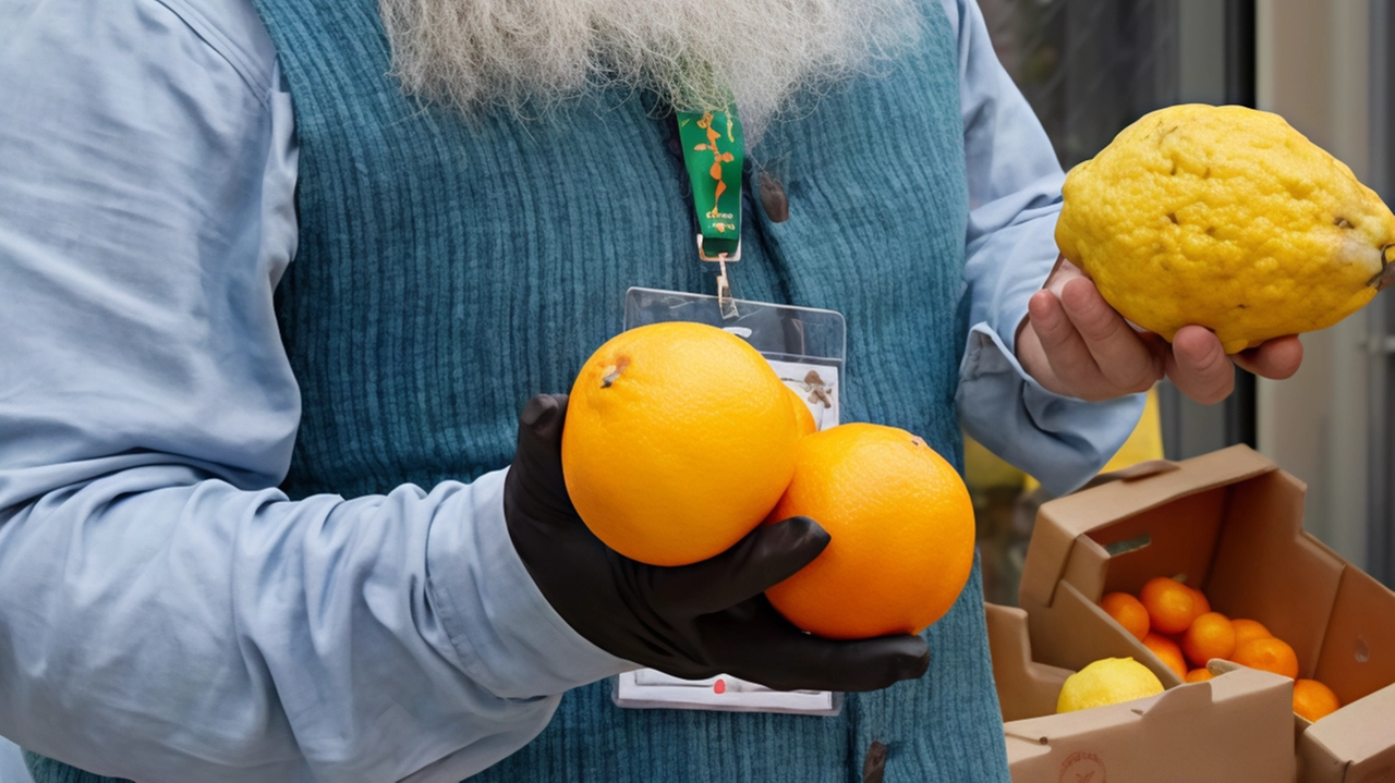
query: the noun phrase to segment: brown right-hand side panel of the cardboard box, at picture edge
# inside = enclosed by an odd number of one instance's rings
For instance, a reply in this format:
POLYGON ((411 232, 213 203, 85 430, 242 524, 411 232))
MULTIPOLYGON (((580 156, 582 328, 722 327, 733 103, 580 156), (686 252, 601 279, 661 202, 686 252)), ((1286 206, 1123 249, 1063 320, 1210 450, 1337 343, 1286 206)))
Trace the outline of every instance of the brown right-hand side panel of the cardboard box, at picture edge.
POLYGON ((1359 568, 1342 570, 1315 679, 1342 704, 1395 684, 1395 592, 1359 568))

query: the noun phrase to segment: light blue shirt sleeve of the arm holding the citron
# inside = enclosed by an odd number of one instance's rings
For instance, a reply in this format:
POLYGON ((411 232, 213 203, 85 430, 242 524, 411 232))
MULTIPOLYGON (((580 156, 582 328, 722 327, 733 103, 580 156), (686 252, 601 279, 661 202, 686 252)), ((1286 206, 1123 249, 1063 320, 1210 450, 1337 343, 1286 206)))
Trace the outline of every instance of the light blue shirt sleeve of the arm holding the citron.
POLYGON ((958 32, 970 220, 970 336, 956 396, 964 429, 1064 495, 1123 444, 1143 394, 1085 403, 1042 389, 1014 354, 1017 326, 1056 263, 1064 174, 1031 106, 997 61, 975 0, 942 0, 958 32))

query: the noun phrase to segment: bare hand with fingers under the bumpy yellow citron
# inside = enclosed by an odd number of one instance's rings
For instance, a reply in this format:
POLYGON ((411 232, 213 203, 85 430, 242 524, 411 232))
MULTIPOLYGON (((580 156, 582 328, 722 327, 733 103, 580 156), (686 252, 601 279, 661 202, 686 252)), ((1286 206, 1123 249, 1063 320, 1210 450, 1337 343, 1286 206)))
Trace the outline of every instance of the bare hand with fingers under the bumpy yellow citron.
POLYGON ((1184 326, 1169 346, 1137 332, 1095 284, 1066 259, 1032 294, 1017 333, 1017 361, 1049 392, 1091 403, 1147 392, 1163 376, 1202 404, 1225 400, 1235 389, 1235 365, 1282 380, 1297 372, 1303 344, 1276 337, 1257 348, 1226 355, 1221 340, 1202 326, 1184 326))

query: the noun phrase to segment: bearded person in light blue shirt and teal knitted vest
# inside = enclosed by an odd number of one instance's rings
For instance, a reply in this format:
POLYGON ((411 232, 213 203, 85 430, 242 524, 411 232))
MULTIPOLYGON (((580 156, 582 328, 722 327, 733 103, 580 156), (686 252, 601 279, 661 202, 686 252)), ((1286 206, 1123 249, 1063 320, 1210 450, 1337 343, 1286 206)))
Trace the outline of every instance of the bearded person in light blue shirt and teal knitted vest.
POLYGON ((665 570, 571 510, 530 396, 626 287, 713 290, 675 111, 734 99, 735 293, 845 313, 844 419, 954 460, 963 421, 1069 490, 1163 373, 1229 390, 1205 330, 1043 288, 1062 171, 972 0, 0 20, 0 734, 39 783, 1006 780, 976 575, 834 642, 760 598, 816 520, 665 570), (624 709, 636 666, 848 695, 624 709))

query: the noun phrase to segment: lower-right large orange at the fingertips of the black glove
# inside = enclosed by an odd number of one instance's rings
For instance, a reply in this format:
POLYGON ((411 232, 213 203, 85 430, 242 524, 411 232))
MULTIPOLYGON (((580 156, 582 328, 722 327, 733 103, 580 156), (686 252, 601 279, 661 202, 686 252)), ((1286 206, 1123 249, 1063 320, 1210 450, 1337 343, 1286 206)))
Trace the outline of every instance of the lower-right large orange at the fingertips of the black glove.
POLYGON ((766 596, 820 637, 918 634, 949 612, 974 566, 964 481, 904 429, 844 424, 801 437, 770 520, 795 515, 833 541, 766 596))

